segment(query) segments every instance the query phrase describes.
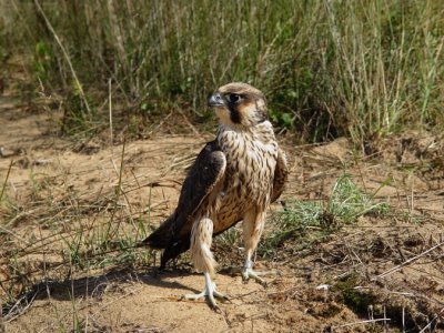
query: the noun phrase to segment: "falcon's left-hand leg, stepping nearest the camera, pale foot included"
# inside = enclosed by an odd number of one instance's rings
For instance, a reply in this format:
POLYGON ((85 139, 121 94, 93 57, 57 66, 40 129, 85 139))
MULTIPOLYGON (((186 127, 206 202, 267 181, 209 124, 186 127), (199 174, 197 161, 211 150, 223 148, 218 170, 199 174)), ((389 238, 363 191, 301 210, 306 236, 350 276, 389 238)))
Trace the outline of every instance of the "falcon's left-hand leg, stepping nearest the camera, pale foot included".
POLYGON ((214 297, 226 300, 226 296, 216 290, 215 283, 212 281, 212 276, 214 276, 214 266, 216 264, 210 251, 212 239, 213 221, 208 218, 198 220, 193 224, 191 231, 191 255, 194 268, 198 271, 203 271, 205 289, 198 294, 184 295, 183 299, 198 300, 206 296, 211 307, 219 310, 214 297))

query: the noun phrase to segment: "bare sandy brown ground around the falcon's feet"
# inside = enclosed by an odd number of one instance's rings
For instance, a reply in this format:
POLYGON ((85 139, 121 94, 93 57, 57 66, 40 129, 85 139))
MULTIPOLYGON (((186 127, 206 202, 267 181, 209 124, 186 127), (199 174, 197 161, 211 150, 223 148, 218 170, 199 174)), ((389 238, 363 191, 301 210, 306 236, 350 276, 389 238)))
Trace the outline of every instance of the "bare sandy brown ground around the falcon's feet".
MULTIPOLYGON (((444 331, 442 138, 404 133, 376 142, 366 158, 345 139, 287 144, 283 201, 325 199, 346 170, 369 193, 386 183, 377 198, 393 213, 361 218, 302 250, 286 241, 274 258, 258 259, 256 268, 276 272, 266 287, 231 273, 242 249, 216 241, 216 284, 231 301, 215 313, 204 301, 179 301, 203 287, 186 255, 163 274, 153 269, 159 255, 143 249, 135 253, 148 259, 137 264, 67 262, 67 244, 88 246, 98 230, 111 225, 114 239, 140 240, 149 231, 139 221, 161 222, 211 134, 162 134, 160 127, 147 140, 127 142, 122 154, 122 143, 59 137, 60 117, 42 110, 8 92, 0 97, 0 181, 9 173, 0 208, 0 332, 444 331)), ((112 258, 127 253, 119 249, 111 248, 112 258)))

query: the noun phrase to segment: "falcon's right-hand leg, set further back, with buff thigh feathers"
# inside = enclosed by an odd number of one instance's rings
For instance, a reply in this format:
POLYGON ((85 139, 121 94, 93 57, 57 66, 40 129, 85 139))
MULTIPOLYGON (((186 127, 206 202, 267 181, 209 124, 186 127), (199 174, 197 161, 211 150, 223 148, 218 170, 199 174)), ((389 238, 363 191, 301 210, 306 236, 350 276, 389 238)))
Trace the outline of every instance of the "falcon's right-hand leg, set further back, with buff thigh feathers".
POLYGON ((243 220, 243 240, 245 244, 246 258, 242 269, 242 279, 246 282, 250 280, 250 278, 252 278, 262 285, 265 285, 266 283, 261 275, 266 275, 269 272, 255 272, 253 270, 252 256, 256 250, 259 240, 261 239, 264 221, 265 212, 256 213, 256 210, 248 212, 243 220))

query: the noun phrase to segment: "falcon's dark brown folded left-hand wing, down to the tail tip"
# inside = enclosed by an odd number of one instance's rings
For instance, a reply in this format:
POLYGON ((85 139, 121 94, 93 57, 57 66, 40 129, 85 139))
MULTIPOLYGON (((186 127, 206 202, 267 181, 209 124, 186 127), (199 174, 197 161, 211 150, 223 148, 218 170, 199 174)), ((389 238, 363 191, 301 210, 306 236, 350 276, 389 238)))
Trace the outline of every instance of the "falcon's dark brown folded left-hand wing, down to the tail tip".
POLYGON ((143 244, 165 249, 161 266, 190 248, 190 234, 195 213, 203 200, 222 179, 226 167, 224 153, 215 141, 199 153, 182 185, 178 208, 143 244))

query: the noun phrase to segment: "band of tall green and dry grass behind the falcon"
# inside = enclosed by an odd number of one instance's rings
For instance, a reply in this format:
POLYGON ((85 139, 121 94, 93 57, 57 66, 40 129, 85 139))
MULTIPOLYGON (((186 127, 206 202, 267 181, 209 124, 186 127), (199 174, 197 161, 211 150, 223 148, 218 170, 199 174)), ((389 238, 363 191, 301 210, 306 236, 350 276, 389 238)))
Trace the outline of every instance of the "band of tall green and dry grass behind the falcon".
POLYGON ((202 121, 209 92, 233 80, 263 90, 275 124, 302 142, 345 134, 366 149, 443 125, 443 8, 433 0, 0 6, 0 61, 30 54, 34 92, 64 110, 71 134, 104 125, 110 89, 134 122, 178 110, 202 121))

